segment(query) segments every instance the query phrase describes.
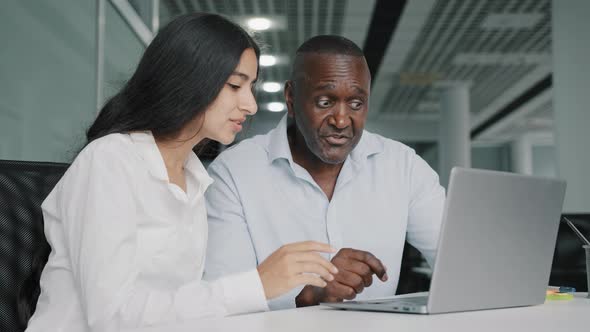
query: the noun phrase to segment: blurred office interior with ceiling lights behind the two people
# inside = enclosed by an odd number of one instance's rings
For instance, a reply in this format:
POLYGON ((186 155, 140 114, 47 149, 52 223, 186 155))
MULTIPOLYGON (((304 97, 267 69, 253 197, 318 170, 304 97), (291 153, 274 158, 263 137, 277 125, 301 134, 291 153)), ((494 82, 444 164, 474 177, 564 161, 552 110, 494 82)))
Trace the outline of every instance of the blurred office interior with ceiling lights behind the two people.
MULTIPOLYGON (((412 146, 443 184, 453 165, 565 178, 564 213, 590 231, 585 0, 2 0, 0 159, 70 162, 158 28, 193 11, 243 24, 271 56, 240 139, 284 116, 297 46, 343 35, 365 50, 373 76, 368 130, 412 146)), ((568 232, 554 262, 562 281, 584 273, 568 232)), ((400 285, 426 287, 419 254, 404 264, 413 275, 400 285)))

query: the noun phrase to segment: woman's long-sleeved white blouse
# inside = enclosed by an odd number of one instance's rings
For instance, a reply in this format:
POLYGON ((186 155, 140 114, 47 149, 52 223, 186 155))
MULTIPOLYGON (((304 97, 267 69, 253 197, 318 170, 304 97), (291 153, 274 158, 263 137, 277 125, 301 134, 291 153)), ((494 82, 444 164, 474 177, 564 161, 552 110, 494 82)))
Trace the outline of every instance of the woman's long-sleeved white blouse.
POLYGON ((168 182, 149 132, 111 134, 82 150, 42 205, 52 251, 27 331, 117 331, 268 310, 256 269, 201 280, 212 179, 193 153, 185 170, 186 193, 168 182))

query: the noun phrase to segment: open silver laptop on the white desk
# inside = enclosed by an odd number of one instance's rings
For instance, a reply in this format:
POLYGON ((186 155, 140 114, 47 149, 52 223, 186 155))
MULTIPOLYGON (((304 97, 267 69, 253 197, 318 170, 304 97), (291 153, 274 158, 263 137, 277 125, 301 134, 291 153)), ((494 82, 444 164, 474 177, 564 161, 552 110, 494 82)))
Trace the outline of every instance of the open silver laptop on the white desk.
POLYGON ((453 168, 429 294, 322 304, 417 314, 541 304, 565 187, 562 180, 453 168))

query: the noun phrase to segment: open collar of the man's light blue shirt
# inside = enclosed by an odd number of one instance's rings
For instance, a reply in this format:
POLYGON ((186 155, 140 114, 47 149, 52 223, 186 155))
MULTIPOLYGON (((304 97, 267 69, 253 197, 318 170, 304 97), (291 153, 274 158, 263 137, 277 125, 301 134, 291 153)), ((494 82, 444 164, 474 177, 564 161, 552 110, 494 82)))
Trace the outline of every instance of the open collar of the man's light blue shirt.
MULTIPOLYGON (((293 156, 287 138, 287 117, 288 115, 285 114, 268 135, 268 155, 271 163, 282 158, 287 159, 291 165, 293 164, 293 156)), ((383 142, 365 130, 361 140, 349 156, 355 163, 362 163, 369 156, 383 152, 383 148, 383 142)))

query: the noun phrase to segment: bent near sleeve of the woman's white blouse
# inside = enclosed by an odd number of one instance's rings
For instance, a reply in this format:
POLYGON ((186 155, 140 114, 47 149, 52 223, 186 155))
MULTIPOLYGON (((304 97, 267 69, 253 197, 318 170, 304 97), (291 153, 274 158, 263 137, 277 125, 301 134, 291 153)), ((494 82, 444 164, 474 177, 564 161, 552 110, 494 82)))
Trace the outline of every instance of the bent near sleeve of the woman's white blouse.
POLYGON ((60 183, 58 209, 92 331, 268 310, 256 269, 162 291, 139 283, 137 192, 123 151, 83 151, 60 183))

